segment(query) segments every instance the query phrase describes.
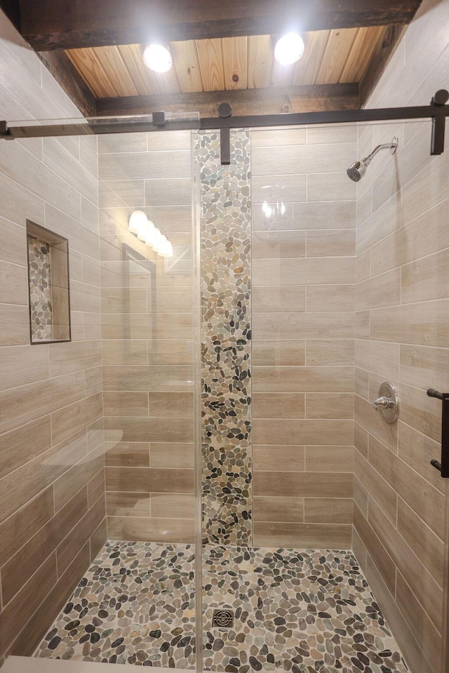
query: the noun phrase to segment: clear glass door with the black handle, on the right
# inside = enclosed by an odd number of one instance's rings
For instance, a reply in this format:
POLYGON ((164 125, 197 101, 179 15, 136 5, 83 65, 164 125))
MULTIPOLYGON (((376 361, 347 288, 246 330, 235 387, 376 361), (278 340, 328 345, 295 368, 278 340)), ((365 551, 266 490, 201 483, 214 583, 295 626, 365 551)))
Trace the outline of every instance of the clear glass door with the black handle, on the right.
POLYGON ((449 384, 449 159, 430 126, 234 131, 230 166, 199 135, 206 670, 443 671, 426 389, 449 384), (384 380, 390 426, 370 404, 384 380))

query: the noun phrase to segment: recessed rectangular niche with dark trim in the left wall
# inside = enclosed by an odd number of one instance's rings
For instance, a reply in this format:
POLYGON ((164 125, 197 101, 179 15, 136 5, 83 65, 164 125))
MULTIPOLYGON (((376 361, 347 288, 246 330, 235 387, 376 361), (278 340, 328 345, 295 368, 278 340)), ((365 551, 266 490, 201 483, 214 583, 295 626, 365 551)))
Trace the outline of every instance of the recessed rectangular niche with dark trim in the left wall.
POLYGON ((69 242, 27 220, 32 344, 70 341, 69 242))

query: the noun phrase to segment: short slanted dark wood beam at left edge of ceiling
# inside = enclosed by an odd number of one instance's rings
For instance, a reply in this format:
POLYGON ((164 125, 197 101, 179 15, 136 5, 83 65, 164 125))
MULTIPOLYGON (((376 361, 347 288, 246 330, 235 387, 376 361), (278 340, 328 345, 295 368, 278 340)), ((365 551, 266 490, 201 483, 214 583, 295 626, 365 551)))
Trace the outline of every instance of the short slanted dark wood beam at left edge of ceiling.
POLYGON ((38 56, 81 114, 95 116, 95 97, 65 51, 41 51, 38 56))

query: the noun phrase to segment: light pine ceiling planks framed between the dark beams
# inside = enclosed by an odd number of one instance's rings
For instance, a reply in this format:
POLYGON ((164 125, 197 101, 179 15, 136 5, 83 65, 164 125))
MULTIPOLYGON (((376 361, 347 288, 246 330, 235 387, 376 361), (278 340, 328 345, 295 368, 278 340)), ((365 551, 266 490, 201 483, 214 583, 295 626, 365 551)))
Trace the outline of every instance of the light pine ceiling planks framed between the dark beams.
POLYGON ((173 68, 162 74, 145 66, 139 44, 66 53, 96 98, 342 84, 361 81, 386 31, 307 32, 304 55, 290 66, 274 60, 270 35, 170 42, 173 68))

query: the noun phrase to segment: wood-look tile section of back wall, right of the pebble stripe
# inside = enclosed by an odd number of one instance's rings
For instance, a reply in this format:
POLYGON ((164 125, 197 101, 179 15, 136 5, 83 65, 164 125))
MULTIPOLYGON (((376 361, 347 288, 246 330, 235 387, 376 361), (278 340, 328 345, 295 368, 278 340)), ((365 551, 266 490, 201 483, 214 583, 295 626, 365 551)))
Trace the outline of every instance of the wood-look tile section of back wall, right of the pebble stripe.
POLYGON ((252 133, 256 546, 351 548, 356 141, 252 133))

